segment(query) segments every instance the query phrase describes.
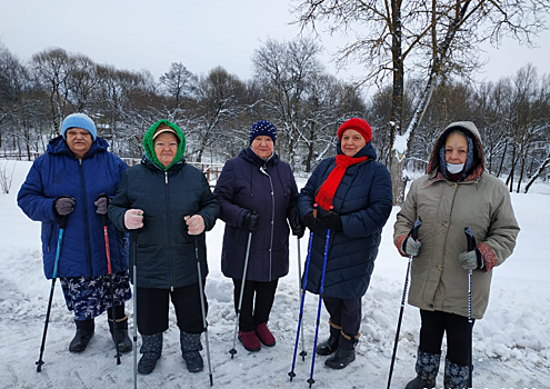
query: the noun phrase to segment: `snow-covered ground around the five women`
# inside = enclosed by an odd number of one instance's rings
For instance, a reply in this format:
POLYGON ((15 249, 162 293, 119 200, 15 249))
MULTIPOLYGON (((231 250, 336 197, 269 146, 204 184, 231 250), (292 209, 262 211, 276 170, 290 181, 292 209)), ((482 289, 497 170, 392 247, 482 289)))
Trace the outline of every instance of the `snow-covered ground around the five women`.
MULTIPOLYGON (((3 163, 3 162, 2 162, 3 163)), ((13 162, 10 162, 13 163, 13 162)), ((17 192, 30 162, 17 162, 11 192, 0 194, 0 388, 133 388, 132 353, 117 366, 107 318, 96 320, 96 336, 81 355, 68 351, 74 333, 71 315, 56 286, 42 372, 37 372, 43 322, 51 282, 42 273, 40 223, 29 220, 17 207, 17 192)), ((11 168, 8 167, 8 171, 11 168)), ((301 184, 303 180, 300 179, 301 184)), ((550 186, 539 184, 529 194, 512 194, 521 232, 511 258, 494 270, 489 309, 474 326, 476 388, 550 388, 550 186)), ((388 221, 371 286, 363 298, 363 319, 357 359, 344 370, 324 367, 327 357, 316 358, 313 388, 386 388, 394 331, 403 291, 407 260, 392 245, 397 208, 388 221)), ((220 271, 223 222, 208 233, 209 266, 206 291, 213 382, 218 388, 307 388, 310 376, 318 298, 306 296, 306 361, 298 357, 296 378, 289 381, 298 325, 297 240, 291 240, 291 270, 280 280, 269 326, 277 346, 248 352, 237 345, 230 358, 234 312, 232 282, 220 271)), ((307 239, 301 239, 306 255, 307 239)), ((464 297, 466 298, 466 297, 464 297)), ((127 305, 130 323, 132 305, 127 305)), ((319 340, 328 333, 322 310, 319 340)), ((420 318, 407 306, 401 327, 392 388, 403 388, 414 377, 420 318)), ((204 339, 203 339, 204 340, 204 339)), ((301 341, 299 351, 301 351, 301 341)), ((202 351, 206 357, 206 351, 202 351)), ((206 358, 204 358, 206 362, 206 358)), ((442 363, 443 365, 443 363, 442 363)), ((442 366, 438 383, 442 385, 442 366)), ((208 368, 189 373, 181 358, 176 317, 164 333, 164 349, 150 376, 138 376, 139 388, 209 387, 208 368)))

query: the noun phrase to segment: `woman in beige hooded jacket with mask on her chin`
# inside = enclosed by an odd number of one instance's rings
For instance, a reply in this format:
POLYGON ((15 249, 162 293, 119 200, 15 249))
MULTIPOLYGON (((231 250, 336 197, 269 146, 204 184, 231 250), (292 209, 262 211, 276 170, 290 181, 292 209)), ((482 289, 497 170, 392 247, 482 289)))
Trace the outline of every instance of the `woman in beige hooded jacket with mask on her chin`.
POLYGON ((516 246, 519 226, 507 187, 484 171, 479 131, 472 122, 447 127, 431 153, 428 174, 414 180, 397 216, 393 241, 411 267, 409 303, 420 308, 417 378, 407 389, 432 388, 447 332, 444 388, 468 388, 470 331, 468 270, 472 271, 472 319, 489 301, 492 268, 516 246), (409 237, 421 218, 418 240, 409 237), (464 228, 477 246, 468 251, 464 228))

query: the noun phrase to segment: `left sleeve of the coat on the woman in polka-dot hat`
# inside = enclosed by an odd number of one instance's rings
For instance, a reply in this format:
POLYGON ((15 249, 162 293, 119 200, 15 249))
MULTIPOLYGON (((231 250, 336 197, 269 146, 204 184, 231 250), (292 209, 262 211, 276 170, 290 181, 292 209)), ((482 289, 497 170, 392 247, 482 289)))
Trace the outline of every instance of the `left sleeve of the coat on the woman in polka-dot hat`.
POLYGON ((213 193, 220 205, 220 219, 226 225, 241 228, 244 216, 249 210, 233 203, 234 170, 231 160, 223 166, 213 193))

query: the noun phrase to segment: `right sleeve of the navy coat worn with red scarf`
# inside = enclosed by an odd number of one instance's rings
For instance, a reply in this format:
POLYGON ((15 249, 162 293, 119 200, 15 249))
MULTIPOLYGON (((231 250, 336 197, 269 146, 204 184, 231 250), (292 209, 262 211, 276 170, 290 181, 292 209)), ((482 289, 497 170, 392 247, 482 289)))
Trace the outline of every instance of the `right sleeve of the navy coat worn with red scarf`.
POLYGON ((342 216, 343 232, 352 238, 377 233, 388 221, 392 202, 390 172, 384 166, 377 164, 370 188, 369 203, 366 209, 342 216))

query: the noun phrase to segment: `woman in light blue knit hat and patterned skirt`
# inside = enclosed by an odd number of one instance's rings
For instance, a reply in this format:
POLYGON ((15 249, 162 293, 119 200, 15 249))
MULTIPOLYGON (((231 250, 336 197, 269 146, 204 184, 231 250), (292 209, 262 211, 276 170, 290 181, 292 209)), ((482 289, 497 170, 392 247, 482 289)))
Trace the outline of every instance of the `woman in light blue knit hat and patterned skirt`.
MULTIPOLYGON (((119 351, 132 349, 128 337, 124 301, 129 300, 128 248, 124 235, 108 223, 114 312, 102 217, 113 197, 126 163, 108 151, 93 121, 83 113, 69 114, 61 136, 32 164, 18 193, 18 205, 32 220, 42 222, 42 253, 46 278, 53 277, 59 221, 67 218, 57 277, 67 308, 74 313, 77 335, 69 351, 81 352, 94 332, 94 318, 107 310, 113 335, 117 320, 119 351), (104 196, 103 196, 104 194, 104 196)), ((114 339, 114 336, 113 336, 114 339)))

